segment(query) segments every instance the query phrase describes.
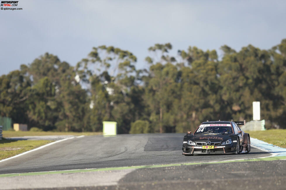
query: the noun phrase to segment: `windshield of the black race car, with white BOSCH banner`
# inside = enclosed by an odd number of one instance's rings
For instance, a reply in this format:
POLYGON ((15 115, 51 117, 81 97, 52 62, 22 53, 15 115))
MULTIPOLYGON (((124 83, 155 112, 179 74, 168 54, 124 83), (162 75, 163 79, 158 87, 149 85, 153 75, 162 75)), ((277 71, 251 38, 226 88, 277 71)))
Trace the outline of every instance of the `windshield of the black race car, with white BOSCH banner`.
POLYGON ((203 124, 194 134, 199 133, 232 133, 232 128, 230 124, 203 124))

